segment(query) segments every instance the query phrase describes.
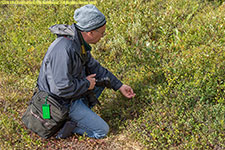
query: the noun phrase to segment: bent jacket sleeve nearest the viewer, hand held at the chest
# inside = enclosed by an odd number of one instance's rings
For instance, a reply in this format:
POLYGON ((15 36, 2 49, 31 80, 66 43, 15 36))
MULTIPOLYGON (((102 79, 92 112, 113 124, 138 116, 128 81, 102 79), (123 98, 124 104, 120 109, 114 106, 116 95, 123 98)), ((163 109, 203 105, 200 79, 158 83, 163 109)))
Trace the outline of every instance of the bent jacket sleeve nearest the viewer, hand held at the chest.
POLYGON ((80 58, 77 55, 61 50, 46 61, 47 80, 51 93, 62 98, 76 98, 88 90, 89 81, 86 78, 78 78, 79 72, 72 73, 72 70, 78 68, 78 59, 80 58))

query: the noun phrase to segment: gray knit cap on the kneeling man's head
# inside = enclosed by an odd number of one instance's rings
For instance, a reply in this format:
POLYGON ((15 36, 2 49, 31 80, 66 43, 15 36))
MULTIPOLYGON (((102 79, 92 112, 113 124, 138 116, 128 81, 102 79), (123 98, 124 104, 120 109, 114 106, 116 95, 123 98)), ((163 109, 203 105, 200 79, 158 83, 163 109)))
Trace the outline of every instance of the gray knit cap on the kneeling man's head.
POLYGON ((92 4, 85 5, 75 10, 76 27, 85 32, 100 28, 106 23, 105 16, 92 4))

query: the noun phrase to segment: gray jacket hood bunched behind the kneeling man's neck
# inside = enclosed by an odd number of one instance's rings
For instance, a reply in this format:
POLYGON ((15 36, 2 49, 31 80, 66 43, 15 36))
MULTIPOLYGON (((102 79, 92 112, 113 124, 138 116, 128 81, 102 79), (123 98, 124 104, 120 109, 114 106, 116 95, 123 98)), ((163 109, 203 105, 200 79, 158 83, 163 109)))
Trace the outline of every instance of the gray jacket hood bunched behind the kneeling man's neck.
POLYGON ((48 28, 53 34, 57 35, 69 35, 75 36, 75 26, 73 25, 65 25, 65 24, 56 24, 48 28))

